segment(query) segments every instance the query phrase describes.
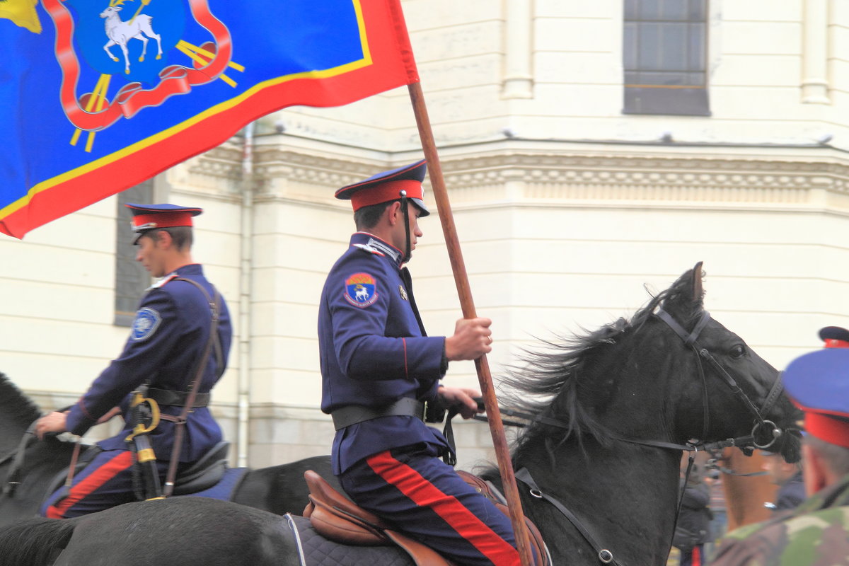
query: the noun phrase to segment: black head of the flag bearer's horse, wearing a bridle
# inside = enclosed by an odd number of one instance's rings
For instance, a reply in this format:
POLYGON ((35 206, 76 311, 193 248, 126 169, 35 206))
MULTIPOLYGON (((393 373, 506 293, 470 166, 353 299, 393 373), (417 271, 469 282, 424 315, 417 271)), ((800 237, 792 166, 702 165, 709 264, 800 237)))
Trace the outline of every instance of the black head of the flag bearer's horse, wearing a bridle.
POLYGON ((749 446, 780 450, 796 462, 799 411, 784 395, 779 372, 704 309, 702 277, 698 263, 651 304, 657 345, 678 360, 678 371, 667 374, 672 435, 715 441, 751 434, 749 446))

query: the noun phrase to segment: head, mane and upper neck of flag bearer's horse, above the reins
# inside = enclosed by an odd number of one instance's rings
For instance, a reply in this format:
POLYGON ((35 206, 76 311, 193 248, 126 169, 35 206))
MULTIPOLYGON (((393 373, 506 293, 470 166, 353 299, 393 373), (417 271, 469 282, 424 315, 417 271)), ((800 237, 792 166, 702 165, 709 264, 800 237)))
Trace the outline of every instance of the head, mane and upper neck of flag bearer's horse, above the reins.
POLYGON ((705 310, 702 277, 698 263, 631 320, 548 342, 554 351, 528 352, 526 366, 504 379, 514 389, 506 396, 544 418, 526 429, 517 449, 539 437, 550 444, 557 421, 559 441, 683 446, 752 434, 757 446, 774 438, 771 450, 798 460, 798 411, 776 385, 779 373, 705 310))

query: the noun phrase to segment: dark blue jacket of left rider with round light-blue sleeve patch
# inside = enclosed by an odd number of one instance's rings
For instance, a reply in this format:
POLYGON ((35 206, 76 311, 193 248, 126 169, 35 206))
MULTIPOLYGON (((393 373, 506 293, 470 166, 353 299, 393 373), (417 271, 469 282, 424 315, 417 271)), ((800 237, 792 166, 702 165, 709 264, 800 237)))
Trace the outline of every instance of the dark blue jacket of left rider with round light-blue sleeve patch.
MULTIPOLYGON (((149 289, 138 306, 132 332, 121 356, 113 360, 94 380, 80 401, 70 409, 68 430, 85 434, 98 417, 114 406, 124 410, 125 427, 120 434, 98 443, 104 450, 127 449, 124 439, 135 423, 129 415, 130 393, 139 385, 186 391, 194 378, 198 363, 209 338, 211 310, 200 289, 192 283, 175 280, 184 277, 200 283, 210 297, 214 296, 211 283, 204 277, 198 264, 183 266, 149 289)), ((212 389, 227 367, 227 357, 232 339, 230 314, 223 297, 219 298, 221 317, 218 337, 221 339, 222 363, 219 367, 215 350, 211 350, 198 391, 212 389)), ((178 415, 182 406, 160 406, 164 413, 178 415)), ((150 435, 158 460, 171 458, 174 423, 160 421, 150 435)), ((222 440, 221 429, 207 407, 199 407, 188 416, 186 435, 180 462, 194 462, 217 442, 222 440)))

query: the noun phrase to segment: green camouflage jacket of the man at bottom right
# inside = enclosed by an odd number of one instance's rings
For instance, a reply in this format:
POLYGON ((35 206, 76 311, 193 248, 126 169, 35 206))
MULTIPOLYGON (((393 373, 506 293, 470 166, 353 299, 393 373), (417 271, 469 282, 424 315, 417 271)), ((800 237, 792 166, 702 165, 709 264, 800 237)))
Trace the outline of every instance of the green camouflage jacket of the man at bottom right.
POLYGON ((717 543, 711 566, 849 564, 849 476, 792 512, 749 524, 717 543))

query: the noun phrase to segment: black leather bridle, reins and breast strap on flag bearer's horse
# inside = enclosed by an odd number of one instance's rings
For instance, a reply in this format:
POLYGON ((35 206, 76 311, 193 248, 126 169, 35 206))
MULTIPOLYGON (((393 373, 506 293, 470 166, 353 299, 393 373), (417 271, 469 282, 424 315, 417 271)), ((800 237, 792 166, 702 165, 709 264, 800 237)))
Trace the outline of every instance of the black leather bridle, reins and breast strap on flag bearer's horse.
MULTIPOLYGON (((773 421, 767 420, 763 417, 769 409, 775 404, 775 401, 778 400, 779 395, 781 395, 784 386, 781 383, 781 376, 779 375, 775 379, 775 383, 773 384, 772 389, 770 389, 767 394, 766 399, 763 401, 763 404, 760 408, 758 408, 749 398, 748 395, 745 394, 743 389, 740 389, 737 381, 731 377, 731 374, 722 367, 722 364, 717 361, 717 359, 711 354, 709 350, 703 348, 698 340, 702 331, 706 328, 708 322, 711 322, 711 313, 708 311, 703 311, 699 321, 696 322, 693 330, 687 331, 685 330, 672 316, 664 311, 661 308, 658 308, 655 311, 655 317, 659 318, 661 321, 666 323, 666 326, 672 328, 672 332, 676 333, 680 339, 683 340, 683 343, 686 347, 691 348, 696 355, 696 365, 699 368, 699 375, 702 381, 702 389, 704 391, 704 395, 702 396, 702 408, 703 408, 703 419, 702 419, 702 434, 701 437, 704 439, 707 436, 707 431, 710 427, 710 411, 708 406, 708 395, 707 395, 707 379, 705 375, 704 367, 702 367, 702 361, 706 361, 710 367, 714 369, 714 372, 722 378, 722 381, 728 385, 731 389, 731 392, 741 401, 746 409, 751 412, 752 416, 755 418, 755 425, 751 430, 751 434, 747 434, 745 436, 740 436, 737 438, 729 438, 726 440, 719 440, 717 442, 712 443, 704 443, 701 440, 696 440, 693 442, 687 442, 686 444, 677 444, 674 442, 666 442, 663 440, 635 440, 629 439, 626 437, 621 437, 618 434, 609 434, 610 437, 614 440, 621 440, 623 442, 628 442, 630 444, 637 444, 641 446, 650 446, 654 448, 662 448, 668 450, 678 450, 678 451, 689 451, 689 462, 687 465, 687 471, 684 474, 683 484, 681 486, 681 492, 678 496, 678 507, 675 512, 675 523, 678 523, 678 513, 681 512, 681 504, 683 503, 683 494, 684 490, 687 486, 687 481, 689 479, 689 474, 692 471, 695 453, 697 451, 709 451, 714 452, 718 450, 722 450, 723 448, 728 448, 731 446, 739 446, 741 449, 749 449, 754 446, 755 448, 768 448, 769 446, 773 446, 776 440, 779 440, 783 431, 779 429, 779 427, 773 423, 773 421), (768 441, 764 441, 762 443, 758 442, 758 434, 765 434, 767 436, 768 441)), ((530 421, 532 423, 542 423, 547 424, 549 426, 554 426, 562 429, 570 429, 569 423, 566 423, 563 420, 554 417, 546 417, 543 415, 533 415, 526 412, 516 411, 510 408, 502 408, 500 409, 502 413, 502 417, 517 417, 526 421, 530 421)), ((486 417, 475 417, 477 420, 486 420, 486 417)), ((450 418, 449 421, 450 423, 450 418)), ((515 424, 518 426, 525 426, 524 423, 515 423, 509 420, 504 420, 504 424, 515 424)), ((537 499, 544 499, 547 502, 551 503, 558 511, 567 518, 571 524, 578 530, 579 533, 583 536, 584 540, 588 542, 588 544, 593 548, 596 552, 597 558, 599 558, 600 563, 609 564, 612 563, 615 566, 618 566, 619 563, 616 562, 616 559, 613 556, 613 552, 610 552, 604 546, 599 545, 596 541, 596 537, 593 536, 591 530, 582 523, 582 521, 576 517, 574 513, 572 513, 563 503, 559 502, 553 496, 548 496, 548 494, 544 493, 543 490, 540 490, 537 486, 537 483, 531 477, 531 473, 527 468, 520 468, 516 471, 515 478, 519 479, 522 483, 526 484, 529 488, 529 493, 531 496, 537 499)), ((672 546, 672 542, 670 541, 670 546, 672 546)))

